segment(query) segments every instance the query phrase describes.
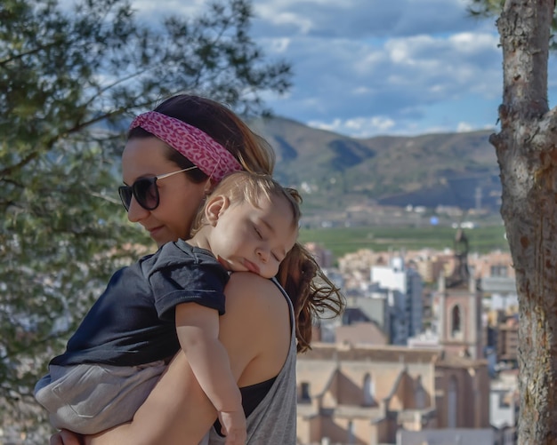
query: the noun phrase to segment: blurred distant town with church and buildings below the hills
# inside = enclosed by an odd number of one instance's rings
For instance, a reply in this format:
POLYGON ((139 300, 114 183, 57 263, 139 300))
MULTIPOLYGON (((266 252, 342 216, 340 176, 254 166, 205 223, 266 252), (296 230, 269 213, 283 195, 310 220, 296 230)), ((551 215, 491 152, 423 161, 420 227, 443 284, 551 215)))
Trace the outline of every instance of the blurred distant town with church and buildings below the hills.
POLYGON ((300 444, 516 443, 512 260, 469 251, 466 228, 442 251, 306 244, 348 304, 298 357, 300 444))

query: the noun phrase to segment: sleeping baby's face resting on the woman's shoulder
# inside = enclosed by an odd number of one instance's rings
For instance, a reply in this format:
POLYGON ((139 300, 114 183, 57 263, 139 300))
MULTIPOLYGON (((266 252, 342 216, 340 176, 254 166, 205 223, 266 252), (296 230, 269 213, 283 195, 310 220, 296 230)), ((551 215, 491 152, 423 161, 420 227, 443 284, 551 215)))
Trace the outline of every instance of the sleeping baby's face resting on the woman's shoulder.
POLYGON ((230 204, 211 234, 211 250, 222 266, 264 278, 278 273, 280 262, 298 236, 291 204, 284 196, 262 197, 257 206, 230 204))

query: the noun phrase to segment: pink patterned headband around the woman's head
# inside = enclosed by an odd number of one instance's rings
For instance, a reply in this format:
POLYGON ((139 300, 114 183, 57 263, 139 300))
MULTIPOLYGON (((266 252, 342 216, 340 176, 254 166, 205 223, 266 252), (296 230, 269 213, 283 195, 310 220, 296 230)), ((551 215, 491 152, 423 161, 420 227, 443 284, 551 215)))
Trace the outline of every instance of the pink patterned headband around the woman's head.
POLYGON ((206 132, 180 119, 148 111, 133 119, 130 130, 135 127, 157 136, 216 182, 232 171, 244 170, 237 159, 206 132))

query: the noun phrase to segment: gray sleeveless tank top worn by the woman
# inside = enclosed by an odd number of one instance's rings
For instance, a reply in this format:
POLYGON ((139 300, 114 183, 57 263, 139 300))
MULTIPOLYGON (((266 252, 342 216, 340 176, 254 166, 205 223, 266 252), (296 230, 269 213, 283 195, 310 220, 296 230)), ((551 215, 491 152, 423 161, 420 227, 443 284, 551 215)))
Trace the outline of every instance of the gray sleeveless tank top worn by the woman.
MULTIPOLYGON (((246 445, 295 445, 296 443, 296 335, 294 307, 287 292, 282 289, 275 279, 278 289, 287 298, 290 309, 290 347, 288 349, 287 362, 269 393, 257 405, 254 411, 247 417, 247 441, 246 445)), ((224 443, 225 438, 219 436, 211 428, 209 434, 210 445, 224 443)))

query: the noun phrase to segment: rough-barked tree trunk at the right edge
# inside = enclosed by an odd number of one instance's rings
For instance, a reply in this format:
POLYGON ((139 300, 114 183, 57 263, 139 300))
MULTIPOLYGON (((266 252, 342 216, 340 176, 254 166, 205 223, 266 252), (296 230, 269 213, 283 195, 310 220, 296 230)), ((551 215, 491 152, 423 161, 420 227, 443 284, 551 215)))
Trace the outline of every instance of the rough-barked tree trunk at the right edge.
POLYGON ((504 60, 501 215, 519 297, 519 443, 557 441, 557 118, 547 104, 553 0, 506 0, 497 20, 504 60))

